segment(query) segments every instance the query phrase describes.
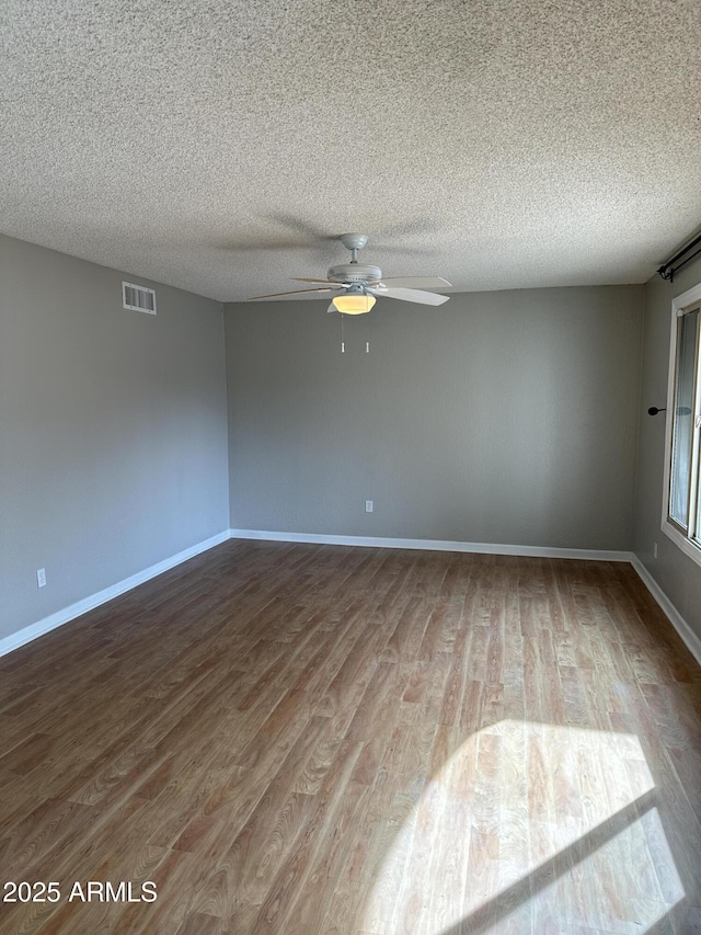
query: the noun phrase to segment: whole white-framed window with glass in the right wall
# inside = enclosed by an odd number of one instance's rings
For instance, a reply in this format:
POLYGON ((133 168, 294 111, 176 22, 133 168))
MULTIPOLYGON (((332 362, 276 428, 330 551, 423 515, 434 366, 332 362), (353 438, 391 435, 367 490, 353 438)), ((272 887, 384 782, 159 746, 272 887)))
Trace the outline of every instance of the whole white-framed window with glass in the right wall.
POLYGON ((701 565, 701 284, 671 304, 663 529, 701 565))

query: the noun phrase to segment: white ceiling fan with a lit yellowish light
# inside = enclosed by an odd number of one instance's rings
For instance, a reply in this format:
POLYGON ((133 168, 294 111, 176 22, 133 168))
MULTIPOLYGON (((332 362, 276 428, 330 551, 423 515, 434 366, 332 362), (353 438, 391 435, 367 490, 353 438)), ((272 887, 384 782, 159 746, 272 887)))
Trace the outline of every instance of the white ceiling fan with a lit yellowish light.
POLYGON ((358 263, 358 250, 361 250, 368 242, 365 233, 342 233, 338 240, 350 251, 349 263, 332 266, 326 271, 327 278, 325 280, 304 280, 295 276, 296 282, 313 283, 317 288, 253 296, 249 301, 303 294, 310 298, 321 298, 322 295, 336 293, 326 309, 327 311, 340 311, 343 315, 364 315, 372 308, 378 297, 383 296, 402 301, 417 301, 423 305, 443 305, 450 298, 450 296, 441 296, 438 293, 425 292, 427 288, 444 289, 450 286, 450 283, 440 276, 402 276, 383 280, 379 266, 365 266, 358 263))

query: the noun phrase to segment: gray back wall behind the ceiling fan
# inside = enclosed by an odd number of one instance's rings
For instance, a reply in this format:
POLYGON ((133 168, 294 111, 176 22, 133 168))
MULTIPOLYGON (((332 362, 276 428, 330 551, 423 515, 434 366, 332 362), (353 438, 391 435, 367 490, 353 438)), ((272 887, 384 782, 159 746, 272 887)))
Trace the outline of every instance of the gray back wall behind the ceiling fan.
POLYGON ((629 549, 643 290, 225 306, 232 527, 629 549))

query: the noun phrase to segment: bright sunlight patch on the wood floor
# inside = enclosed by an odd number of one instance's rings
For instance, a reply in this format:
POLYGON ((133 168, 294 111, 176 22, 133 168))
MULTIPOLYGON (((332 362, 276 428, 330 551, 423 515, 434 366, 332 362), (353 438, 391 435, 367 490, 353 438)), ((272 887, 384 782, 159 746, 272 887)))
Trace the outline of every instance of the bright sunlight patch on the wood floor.
POLYGON ((505 720, 461 741, 388 822, 360 928, 643 933, 683 889, 636 737, 505 720), (399 893, 399 897, 398 897, 399 893))

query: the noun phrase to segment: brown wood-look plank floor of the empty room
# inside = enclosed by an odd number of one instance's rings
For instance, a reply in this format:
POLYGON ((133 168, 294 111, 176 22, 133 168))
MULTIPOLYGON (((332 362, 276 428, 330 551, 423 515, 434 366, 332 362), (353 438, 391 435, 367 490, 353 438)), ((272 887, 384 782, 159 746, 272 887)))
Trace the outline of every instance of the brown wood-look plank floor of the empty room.
POLYGON ((0 660, 0 881, 61 890, 0 935, 701 932, 701 671, 627 565, 227 543, 0 660))

